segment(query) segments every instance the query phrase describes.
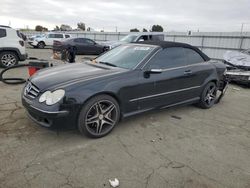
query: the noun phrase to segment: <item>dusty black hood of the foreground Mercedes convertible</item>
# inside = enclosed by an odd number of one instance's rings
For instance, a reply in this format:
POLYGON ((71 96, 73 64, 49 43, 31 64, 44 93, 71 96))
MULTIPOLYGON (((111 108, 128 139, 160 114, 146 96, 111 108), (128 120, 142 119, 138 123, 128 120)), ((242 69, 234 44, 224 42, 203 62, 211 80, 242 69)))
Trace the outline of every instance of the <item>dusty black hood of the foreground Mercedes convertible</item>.
POLYGON ((121 71, 124 69, 94 63, 73 63, 40 70, 29 80, 43 91, 65 87, 79 81, 103 78, 121 71))

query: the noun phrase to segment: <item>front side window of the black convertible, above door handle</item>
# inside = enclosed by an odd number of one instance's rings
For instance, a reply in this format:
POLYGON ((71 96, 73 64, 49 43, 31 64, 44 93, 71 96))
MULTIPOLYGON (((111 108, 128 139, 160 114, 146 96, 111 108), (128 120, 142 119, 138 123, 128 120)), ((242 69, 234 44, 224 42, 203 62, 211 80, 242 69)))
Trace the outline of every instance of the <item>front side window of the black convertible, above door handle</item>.
POLYGON ((168 69, 187 64, 186 56, 181 47, 166 48, 158 52, 148 63, 150 69, 168 69))

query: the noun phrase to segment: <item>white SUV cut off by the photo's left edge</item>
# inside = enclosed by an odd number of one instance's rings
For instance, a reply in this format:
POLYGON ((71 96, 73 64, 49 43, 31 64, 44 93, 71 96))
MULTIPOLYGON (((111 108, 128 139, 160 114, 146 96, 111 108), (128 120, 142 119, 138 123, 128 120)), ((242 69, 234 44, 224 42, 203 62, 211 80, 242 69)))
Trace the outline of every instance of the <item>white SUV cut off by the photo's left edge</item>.
POLYGON ((0 66, 10 67, 27 58, 19 31, 0 25, 0 66))

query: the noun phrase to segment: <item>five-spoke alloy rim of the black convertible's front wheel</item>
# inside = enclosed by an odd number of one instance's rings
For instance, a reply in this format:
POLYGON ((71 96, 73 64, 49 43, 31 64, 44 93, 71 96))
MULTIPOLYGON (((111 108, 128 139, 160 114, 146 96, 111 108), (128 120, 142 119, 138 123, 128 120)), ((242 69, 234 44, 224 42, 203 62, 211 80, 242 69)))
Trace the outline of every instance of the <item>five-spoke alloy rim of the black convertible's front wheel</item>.
POLYGON ((92 105, 86 113, 85 125, 93 135, 109 132, 117 121, 118 110, 111 101, 101 100, 92 105))

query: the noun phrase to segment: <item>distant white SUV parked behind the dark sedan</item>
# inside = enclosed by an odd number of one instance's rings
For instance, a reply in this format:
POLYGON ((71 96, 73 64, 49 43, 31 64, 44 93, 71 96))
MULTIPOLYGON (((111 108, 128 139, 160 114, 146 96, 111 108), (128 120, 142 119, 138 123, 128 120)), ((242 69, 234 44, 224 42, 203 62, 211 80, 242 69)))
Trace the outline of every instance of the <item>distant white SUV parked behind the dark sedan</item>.
POLYGON ((41 37, 31 38, 28 43, 34 48, 44 48, 45 46, 52 46, 54 40, 63 41, 70 37, 69 34, 48 33, 41 37))

